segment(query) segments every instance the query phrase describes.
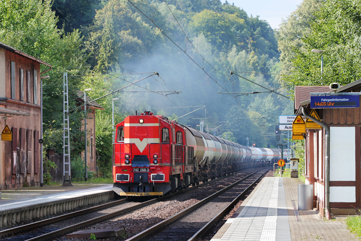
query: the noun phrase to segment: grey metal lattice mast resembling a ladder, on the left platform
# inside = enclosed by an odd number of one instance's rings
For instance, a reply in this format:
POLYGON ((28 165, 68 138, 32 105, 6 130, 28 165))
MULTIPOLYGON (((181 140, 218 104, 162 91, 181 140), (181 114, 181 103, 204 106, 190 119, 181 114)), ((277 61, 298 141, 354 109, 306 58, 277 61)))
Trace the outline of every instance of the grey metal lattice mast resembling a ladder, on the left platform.
POLYGON ((63 85, 63 184, 73 186, 70 182, 70 136, 69 136, 69 101, 68 101, 68 73, 64 73, 63 85))

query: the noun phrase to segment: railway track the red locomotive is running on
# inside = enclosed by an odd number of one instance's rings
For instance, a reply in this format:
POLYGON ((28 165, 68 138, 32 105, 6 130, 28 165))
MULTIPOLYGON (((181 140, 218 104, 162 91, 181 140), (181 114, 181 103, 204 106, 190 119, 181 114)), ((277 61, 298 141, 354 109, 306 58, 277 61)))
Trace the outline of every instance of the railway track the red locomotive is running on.
MULTIPOLYGON (((239 173, 239 172, 236 172, 239 173)), ((235 173, 235 174, 236 174, 235 173)), ((139 210, 139 208, 151 205, 153 203, 162 201, 164 199, 173 197, 193 190, 195 188, 208 185, 212 182, 221 180, 229 176, 217 178, 213 181, 208 181, 203 184, 192 186, 190 188, 171 193, 160 198, 151 199, 143 203, 130 202, 127 199, 106 203, 103 205, 87 208, 77 212, 57 216, 55 218, 41 220, 35 223, 22 225, 15 228, 0 231, 0 241, 43 241, 50 238, 72 232, 74 230, 86 227, 88 225, 99 223, 115 216, 120 216, 131 212, 132 210, 139 210)))

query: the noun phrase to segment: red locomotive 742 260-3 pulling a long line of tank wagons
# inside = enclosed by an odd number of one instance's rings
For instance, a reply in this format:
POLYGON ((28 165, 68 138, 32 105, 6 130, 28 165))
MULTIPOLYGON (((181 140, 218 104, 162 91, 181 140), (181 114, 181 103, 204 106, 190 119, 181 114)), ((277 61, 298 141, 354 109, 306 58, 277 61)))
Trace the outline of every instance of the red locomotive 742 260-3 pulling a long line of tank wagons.
POLYGON ((145 111, 116 125, 113 190, 121 196, 164 195, 270 165, 280 156, 280 149, 242 146, 145 111))

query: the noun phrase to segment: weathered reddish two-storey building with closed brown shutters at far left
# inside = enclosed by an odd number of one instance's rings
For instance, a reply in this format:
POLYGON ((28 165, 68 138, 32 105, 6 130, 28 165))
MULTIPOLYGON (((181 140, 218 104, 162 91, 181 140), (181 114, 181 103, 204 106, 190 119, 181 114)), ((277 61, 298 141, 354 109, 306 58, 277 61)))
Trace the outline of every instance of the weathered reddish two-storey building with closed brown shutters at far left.
MULTIPOLYGON (((0 189, 40 185, 40 65, 51 65, 0 43, 0 189)), ((45 73, 45 70, 43 73, 45 73)))

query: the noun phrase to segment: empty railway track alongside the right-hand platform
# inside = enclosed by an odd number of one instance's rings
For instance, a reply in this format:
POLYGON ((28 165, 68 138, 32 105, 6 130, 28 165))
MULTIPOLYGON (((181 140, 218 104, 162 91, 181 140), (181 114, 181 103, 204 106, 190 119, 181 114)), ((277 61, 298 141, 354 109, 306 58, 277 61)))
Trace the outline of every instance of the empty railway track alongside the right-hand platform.
POLYGON ((267 171, 256 171, 126 241, 193 241, 227 214, 267 171))

